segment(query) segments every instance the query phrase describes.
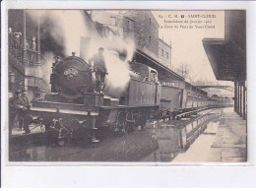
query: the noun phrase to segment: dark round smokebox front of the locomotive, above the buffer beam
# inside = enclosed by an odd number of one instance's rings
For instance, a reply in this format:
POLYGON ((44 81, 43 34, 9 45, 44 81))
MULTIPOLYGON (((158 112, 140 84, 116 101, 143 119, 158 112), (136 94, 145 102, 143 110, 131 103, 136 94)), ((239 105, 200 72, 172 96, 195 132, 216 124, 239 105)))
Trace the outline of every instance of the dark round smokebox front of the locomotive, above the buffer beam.
POLYGON ((67 99, 82 97, 85 93, 93 93, 92 78, 89 64, 72 52, 72 56, 60 61, 57 58, 53 63, 50 79, 51 92, 58 93, 59 96, 67 99))

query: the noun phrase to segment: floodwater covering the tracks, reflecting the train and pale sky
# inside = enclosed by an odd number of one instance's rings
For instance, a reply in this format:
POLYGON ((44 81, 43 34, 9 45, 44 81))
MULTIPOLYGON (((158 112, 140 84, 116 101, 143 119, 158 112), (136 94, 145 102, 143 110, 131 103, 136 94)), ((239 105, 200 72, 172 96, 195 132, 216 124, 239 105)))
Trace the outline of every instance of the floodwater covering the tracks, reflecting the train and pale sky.
MULTIPOLYGON (((10 161, 196 161, 193 156, 195 157, 198 152, 198 147, 207 144, 211 147, 209 136, 214 137, 222 112, 222 109, 209 109, 179 120, 152 120, 148 121, 143 130, 122 135, 109 134, 100 142, 87 145, 53 147, 45 144, 11 144, 9 159, 10 161), (196 143, 197 140, 201 142, 196 143), (193 145, 198 146, 193 149, 193 145)), ((200 153, 205 151, 206 148, 200 153)))

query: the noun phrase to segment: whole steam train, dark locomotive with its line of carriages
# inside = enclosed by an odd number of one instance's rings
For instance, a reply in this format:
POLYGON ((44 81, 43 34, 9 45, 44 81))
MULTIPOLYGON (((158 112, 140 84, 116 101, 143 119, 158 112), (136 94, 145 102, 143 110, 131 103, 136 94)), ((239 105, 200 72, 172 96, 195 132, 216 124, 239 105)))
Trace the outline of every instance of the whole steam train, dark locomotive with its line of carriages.
POLYGON ((193 95, 158 81, 158 71, 136 61, 130 63, 131 79, 119 97, 105 89, 95 93, 89 64, 75 53, 52 64, 51 93, 32 100, 31 116, 40 118, 59 139, 97 142, 98 128, 116 132, 143 128, 150 118, 178 117, 198 108, 217 106, 205 92, 193 95))

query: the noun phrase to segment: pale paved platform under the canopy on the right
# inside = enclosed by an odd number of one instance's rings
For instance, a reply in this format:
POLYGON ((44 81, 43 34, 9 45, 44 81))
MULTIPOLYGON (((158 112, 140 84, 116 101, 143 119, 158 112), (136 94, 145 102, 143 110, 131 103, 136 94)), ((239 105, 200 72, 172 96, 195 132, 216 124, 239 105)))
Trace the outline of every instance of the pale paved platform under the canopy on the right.
POLYGON ((246 120, 232 107, 224 108, 223 116, 215 136, 210 161, 240 162, 247 160, 246 120))

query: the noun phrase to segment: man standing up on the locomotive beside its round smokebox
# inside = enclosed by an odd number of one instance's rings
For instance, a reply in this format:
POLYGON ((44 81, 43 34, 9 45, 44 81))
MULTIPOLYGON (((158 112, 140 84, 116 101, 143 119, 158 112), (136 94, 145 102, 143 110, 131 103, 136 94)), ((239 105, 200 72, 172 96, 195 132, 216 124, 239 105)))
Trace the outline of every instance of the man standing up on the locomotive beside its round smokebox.
POLYGON ((103 91, 105 75, 107 74, 107 70, 105 67, 105 60, 103 56, 103 48, 98 48, 98 53, 95 54, 90 60, 89 65, 92 66, 92 61, 94 61, 94 72, 96 73, 96 93, 100 93, 103 91))

